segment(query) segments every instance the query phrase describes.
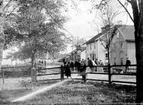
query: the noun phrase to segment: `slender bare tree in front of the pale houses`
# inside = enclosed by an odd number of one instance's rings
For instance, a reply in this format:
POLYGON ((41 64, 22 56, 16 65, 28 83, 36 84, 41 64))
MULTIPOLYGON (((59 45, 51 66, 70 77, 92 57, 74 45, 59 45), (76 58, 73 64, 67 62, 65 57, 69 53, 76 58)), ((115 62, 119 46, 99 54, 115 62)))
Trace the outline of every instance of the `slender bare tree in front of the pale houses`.
POLYGON ((117 31, 117 24, 121 20, 116 20, 116 17, 123 13, 123 11, 118 11, 113 9, 112 6, 108 3, 100 3, 96 5, 96 8, 100 11, 99 18, 101 20, 102 33, 104 36, 100 38, 100 42, 105 48, 107 52, 107 60, 108 60, 108 76, 109 76, 109 84, 111 84, 111 70, 110 70, 110 52, 111 49, 111 42, 113 37, 116 35, 117 31))

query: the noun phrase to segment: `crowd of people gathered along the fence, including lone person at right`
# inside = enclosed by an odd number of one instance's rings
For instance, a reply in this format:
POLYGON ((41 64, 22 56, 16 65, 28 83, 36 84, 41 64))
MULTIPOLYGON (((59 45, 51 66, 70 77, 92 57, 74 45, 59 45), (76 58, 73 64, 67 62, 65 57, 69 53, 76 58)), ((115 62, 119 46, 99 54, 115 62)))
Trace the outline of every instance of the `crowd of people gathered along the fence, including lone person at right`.
MULTIPOLYGON (((130 64, 131 64, 130 60, 127 59, 125 72, 127 72, 127 70, 129 69, 130 64)), ((62 65, 63 67, 62 75, 63 76, 65 75, 67 78, 70 77, 72 79, 71 72, 77 71, 78 75, 82 76, 82 80, 86 82, 87 72, 94 72, 94 71, 104 72, 103 67, 100 66, 103 66, 103 63, 101 60, 98 61, 97 59, 95 59, 95 61, 90 58, 87 58, 87 60, 82 59, 76 61, 64 60, 62 65)))

